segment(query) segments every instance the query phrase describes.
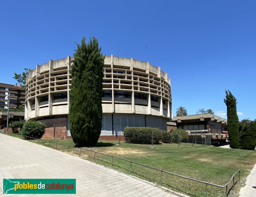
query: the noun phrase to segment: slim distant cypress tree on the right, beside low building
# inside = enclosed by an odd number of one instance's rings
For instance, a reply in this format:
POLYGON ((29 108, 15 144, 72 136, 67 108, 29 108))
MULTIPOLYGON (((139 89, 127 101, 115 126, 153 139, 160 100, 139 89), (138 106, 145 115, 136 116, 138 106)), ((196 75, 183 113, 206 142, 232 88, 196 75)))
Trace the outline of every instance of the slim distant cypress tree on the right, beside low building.
POLYGON ((228 90, 226 91, 226 99, 224 98, 224 103, 227 106, 227 117, 228 117, 228 136, 229 145, 231 148, 238 148, 239 138, 239 121, 236 113, 236 98, 228 90))

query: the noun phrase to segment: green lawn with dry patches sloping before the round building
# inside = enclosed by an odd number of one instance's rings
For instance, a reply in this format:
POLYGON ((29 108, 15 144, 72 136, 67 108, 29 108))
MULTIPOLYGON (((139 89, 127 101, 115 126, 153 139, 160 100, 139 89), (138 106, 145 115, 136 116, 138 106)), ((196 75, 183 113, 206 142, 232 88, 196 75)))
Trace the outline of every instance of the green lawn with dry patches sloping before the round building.
MULTIPOLYGON (((13 136, 15 134, 8 135, 13 136)), ((33 140, 31 141, 33 142, 33 140)), ((50 141, 53 142, 53 140, 50 141)), ((47 143, 42 140, 39 142, 41 144, 44 142, 45 146, 49 146, 49 142, 47 143)), ((72 140, 59 140, 58 143, 74 146, 72 140)), ((164 143, 154 145, 154 148, 150 146, 125 142, 121 142, 117 146, 116 142, 99 141, 95 146, 86 148, 218 185, 225 185, 232 175, 240 169, 240 183, 235 185, 234 192, 231 190, 228 196, 239 196, 241 186, 244 186, 246 177, 256 163, 255 150, 223 149, 213 146, 175 148, 172 144, 164 143)), ((56 144, 50 143, 50 147, 56 149, 56 144)), ((57 149, 67 152, 69 149, 70 154, 74 155, 80 154, 81 151, 78 148, 69 148, 59 144, 57 149)), ((82 150, 81 157, 93 161, 94 152, 82 150)), ((132 173, 130 173, 130 162, 114 158, 112 166, 112 157, 100 154, 95 155, 94 162, 161 185, 161 172, 154 169, 132 164, 132 173)), ((235 177, 235 180, 238 180, 238 175, 235 177)), ((166 173, 163 173, 163 186, 189 196, 205 196, 205 184, 166 173)), ((231 186, 232 184, 228 186, 228 189, 231 186)), ((225 196, 224 188, 208 186, 207 189, 208 196, 225 196)))

